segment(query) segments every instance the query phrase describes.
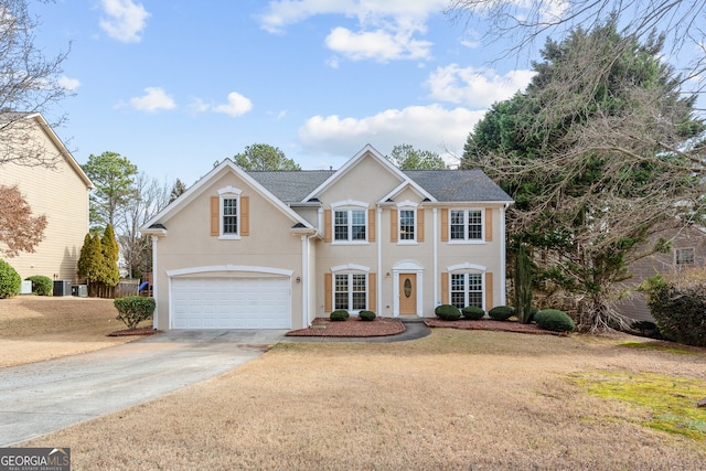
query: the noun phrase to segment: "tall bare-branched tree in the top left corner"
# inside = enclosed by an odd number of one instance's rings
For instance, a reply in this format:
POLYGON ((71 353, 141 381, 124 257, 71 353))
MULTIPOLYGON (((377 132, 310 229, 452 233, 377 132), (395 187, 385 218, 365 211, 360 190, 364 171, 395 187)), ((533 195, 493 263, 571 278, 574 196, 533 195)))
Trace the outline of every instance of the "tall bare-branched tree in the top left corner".
POLYGON ((34 45, 39 24, 28 3, 0 0, 0 164, 53 167, 61 156, 41 144, 38 124, 28 117, 40 113, 46 118, 51 105, 69 95, 58 82, 68 51, 45 57, 34 45))

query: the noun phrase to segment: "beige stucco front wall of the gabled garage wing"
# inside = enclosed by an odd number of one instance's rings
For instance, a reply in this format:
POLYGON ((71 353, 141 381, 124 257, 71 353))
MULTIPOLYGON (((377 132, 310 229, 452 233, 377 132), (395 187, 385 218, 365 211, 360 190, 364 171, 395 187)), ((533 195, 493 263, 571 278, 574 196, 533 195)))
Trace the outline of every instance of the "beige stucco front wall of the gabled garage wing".
MULTIPOLYGON (((157 243, 156 282, 159 287, 169 286, 168 272, 174 270, 201 269, 199 278, 267 278, 284 276, 272 274, 272 269, 291 271, 292 327, 302 324, 301 281, 296 281, 297 277, 301 280, 304 276, 301 236, 292 235, 290 227, 296 223, 289 216, 246 182, 235 174, 226 174, 162 224, 168 234, 159 237, 157 243), (249 235, 239 239, 222 239, 211 235, 211 197, 218 196, 218 189, 228 185, 242 190, 240 197, 248 197, 249 201, 249 235), (207 267, 214 271, 203 271, 207 267), (228 269, 220 269, 223 267, 228 269), (237 267, 246 269, 238 270, 237 267)), ((168 327, 169 295, 164 288, 157 295, 160 329, 168 327)))

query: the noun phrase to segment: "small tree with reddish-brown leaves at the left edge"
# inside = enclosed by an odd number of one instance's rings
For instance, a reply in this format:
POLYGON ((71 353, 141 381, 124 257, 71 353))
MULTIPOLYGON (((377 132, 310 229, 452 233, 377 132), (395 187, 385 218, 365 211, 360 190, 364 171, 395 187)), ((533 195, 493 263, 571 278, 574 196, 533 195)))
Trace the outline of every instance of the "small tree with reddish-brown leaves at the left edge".
POLYGON ((0 185, 0 254, 11 258, 21 251, 34 251, 44 238, 46 216, 32 216, 17 185, 0 185))

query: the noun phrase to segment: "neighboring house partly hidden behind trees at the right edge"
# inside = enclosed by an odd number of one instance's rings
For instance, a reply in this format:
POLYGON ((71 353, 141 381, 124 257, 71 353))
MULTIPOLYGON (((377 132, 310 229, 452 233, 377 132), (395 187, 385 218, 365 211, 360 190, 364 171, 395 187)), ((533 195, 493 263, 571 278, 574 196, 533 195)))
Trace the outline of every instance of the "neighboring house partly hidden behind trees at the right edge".
POLYGON ((697 226, 686 226, 680 229, 666 229, 652 236, 650 244, 659 237, 671 240, 672 249, 666 254, 653 254, 630 264, 628 268, 633 275, 625 280, 629 297, 617 302, 618 311, 631 319, 653 322, 644 295, 638 292, 638 287, 645 279, 655 275, 671 275, 683 268, 706 266, 706 233, 697 226))

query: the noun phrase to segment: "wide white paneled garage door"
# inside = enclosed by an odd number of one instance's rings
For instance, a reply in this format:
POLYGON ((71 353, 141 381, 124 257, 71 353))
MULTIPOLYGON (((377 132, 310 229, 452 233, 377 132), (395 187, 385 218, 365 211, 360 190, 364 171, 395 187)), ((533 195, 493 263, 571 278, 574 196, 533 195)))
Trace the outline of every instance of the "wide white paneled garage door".
POLYGON ((175 278, 172 329, 290 329, 289 278, 175 278))

